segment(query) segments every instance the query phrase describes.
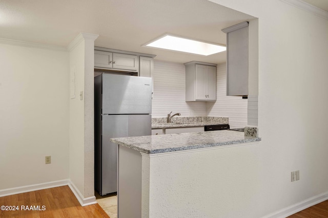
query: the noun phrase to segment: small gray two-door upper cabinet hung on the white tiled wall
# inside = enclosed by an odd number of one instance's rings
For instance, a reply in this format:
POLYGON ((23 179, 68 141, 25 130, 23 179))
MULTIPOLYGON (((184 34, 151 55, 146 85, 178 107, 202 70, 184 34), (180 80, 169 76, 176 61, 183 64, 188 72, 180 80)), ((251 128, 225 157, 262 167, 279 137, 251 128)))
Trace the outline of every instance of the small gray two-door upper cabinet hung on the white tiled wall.
POLYGON ((192 61, 186 65, 186 101, 216 101, 216 64, 192 61))

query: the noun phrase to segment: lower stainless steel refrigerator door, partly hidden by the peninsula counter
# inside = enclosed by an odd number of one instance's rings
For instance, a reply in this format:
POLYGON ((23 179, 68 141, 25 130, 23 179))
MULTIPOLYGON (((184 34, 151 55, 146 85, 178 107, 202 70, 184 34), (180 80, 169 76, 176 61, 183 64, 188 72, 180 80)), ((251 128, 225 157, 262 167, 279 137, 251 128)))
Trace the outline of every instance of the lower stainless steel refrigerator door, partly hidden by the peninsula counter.
POLYGON ((103 115, 101 194, 117 191, 117 144, 110 138, 151 135, 150 114, 103 115))

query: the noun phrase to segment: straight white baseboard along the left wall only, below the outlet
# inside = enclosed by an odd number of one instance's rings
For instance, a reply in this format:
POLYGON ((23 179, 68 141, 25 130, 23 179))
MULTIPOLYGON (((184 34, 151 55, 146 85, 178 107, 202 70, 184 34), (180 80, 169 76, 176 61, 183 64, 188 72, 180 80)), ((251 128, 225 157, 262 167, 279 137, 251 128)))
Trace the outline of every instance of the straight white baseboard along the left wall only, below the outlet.
POLYGON ((7 189, 0 190, 0 197, 16 195, 29 191, 42 190, 46 188, 54 188, 54 187, 68 185, 68 184, 69 184, 69 180, 65 179, 65 180, 59 180, 54 182, 45 182, 45 183, 26 185, 26 186, 20 186, 15 188, 7 188, 7 189))

